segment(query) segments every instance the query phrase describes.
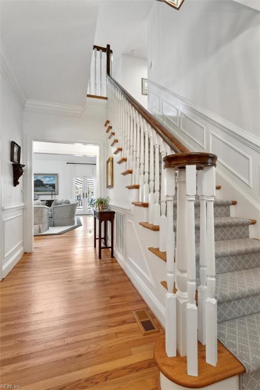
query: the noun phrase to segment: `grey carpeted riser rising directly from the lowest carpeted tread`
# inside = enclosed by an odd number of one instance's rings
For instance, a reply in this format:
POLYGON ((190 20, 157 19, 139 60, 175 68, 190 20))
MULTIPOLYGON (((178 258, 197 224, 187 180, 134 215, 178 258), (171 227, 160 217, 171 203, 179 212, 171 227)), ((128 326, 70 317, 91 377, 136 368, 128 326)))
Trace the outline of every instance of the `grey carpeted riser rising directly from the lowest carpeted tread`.
POLYGON ((218 322, 260 312, 260 295, 217 304, 218 322))

